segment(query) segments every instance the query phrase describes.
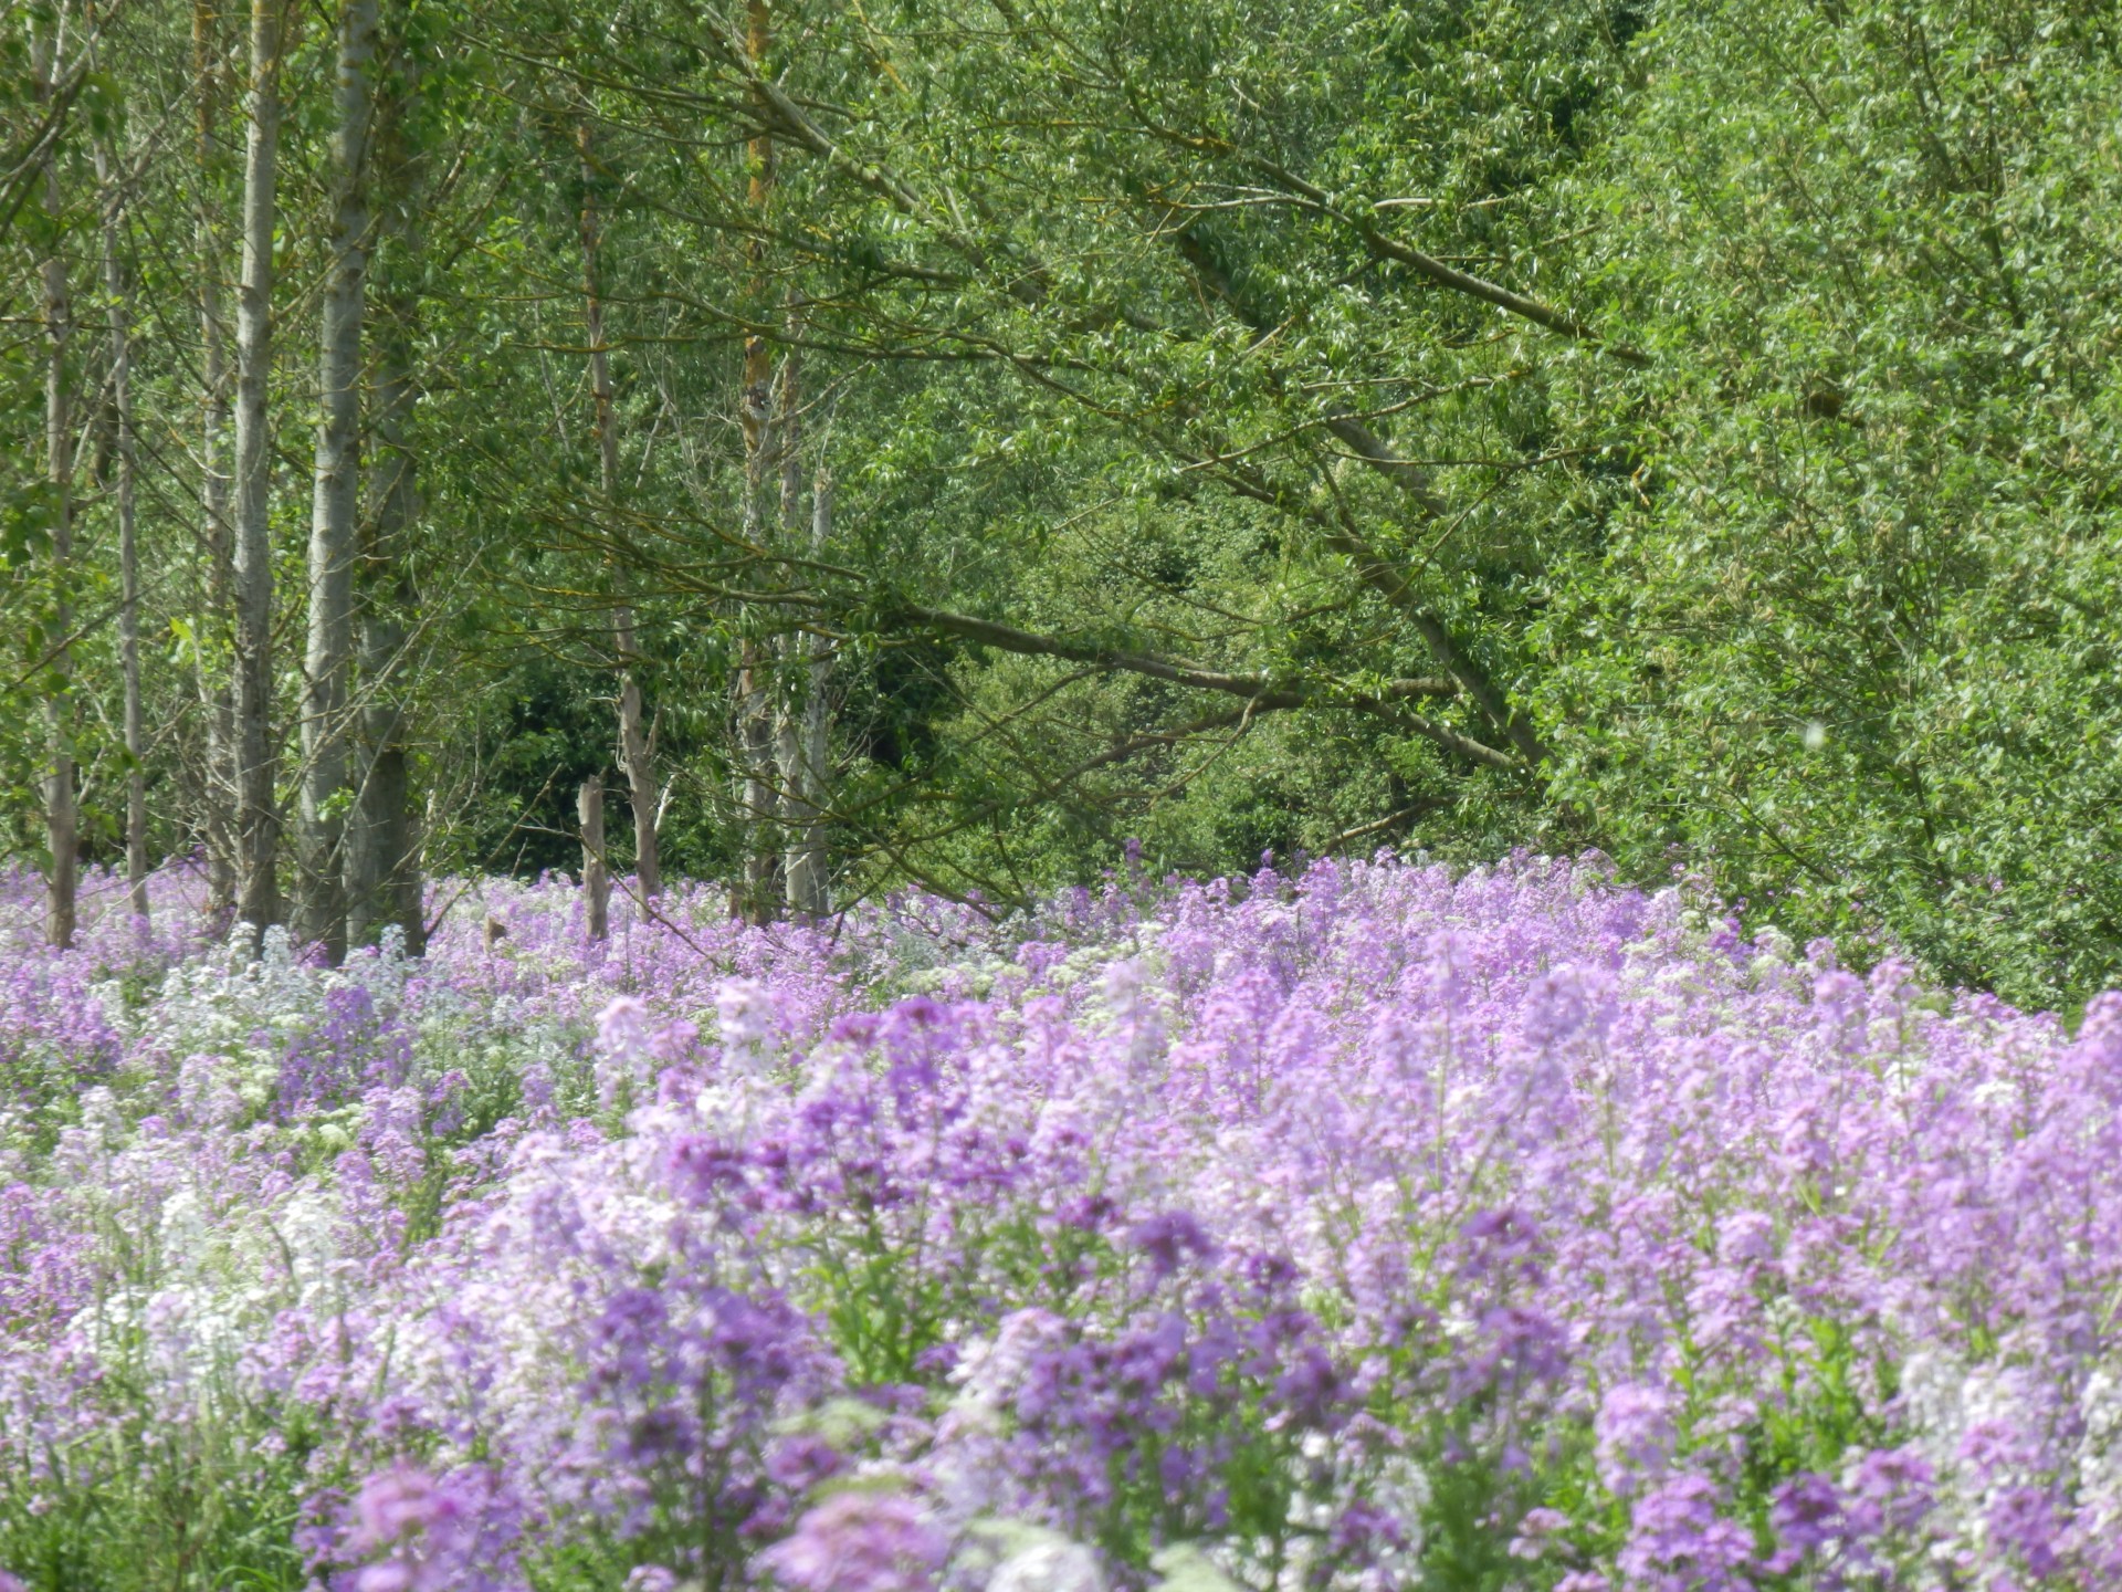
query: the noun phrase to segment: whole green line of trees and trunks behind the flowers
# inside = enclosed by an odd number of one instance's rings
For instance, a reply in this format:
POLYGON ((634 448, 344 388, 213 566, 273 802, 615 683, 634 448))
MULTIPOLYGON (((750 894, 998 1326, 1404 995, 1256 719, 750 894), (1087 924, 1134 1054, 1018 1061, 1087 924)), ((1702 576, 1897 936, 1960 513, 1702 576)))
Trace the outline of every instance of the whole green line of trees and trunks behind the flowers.
MULTIPOLYGON (((1598 845, 2118 974, 2111 4, 8 0, 8 845, 1598 845)), ((144 902, 144 896, 140 898, 144 902)))

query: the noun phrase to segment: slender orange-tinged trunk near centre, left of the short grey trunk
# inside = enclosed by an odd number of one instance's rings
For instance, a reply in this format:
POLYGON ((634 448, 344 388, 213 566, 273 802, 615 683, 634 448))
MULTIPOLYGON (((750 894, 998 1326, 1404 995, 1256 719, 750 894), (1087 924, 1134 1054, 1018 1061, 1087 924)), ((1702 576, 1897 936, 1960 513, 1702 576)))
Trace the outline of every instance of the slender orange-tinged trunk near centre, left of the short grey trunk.
MULTIPOLYGON (((772 40, 766 0, 749 0, 745 8, 745 53, 753 68, 764 68, 772 40)), ((760 134, 745 144, 745 197, 755 217, 764 219, 775 189, 775 144, 760 134)), ((766 304, 766 240, 753 231, 745 244, 751 263, 751 304, 764 314, 766 304)), ((745 543, 764 546, 768 535, 768 492, 777 469, 775 427, 775 359, 762 331, 745 338, 743 393, 736 418, 745 433, 745 543)), ((772 917, 779 870, 781 796, 775 785, 775 656, 758 637, 745 635, 736 652, 736 766, 738 813, 743 834, 743 889, 736 909, 753 923, 772 917)))

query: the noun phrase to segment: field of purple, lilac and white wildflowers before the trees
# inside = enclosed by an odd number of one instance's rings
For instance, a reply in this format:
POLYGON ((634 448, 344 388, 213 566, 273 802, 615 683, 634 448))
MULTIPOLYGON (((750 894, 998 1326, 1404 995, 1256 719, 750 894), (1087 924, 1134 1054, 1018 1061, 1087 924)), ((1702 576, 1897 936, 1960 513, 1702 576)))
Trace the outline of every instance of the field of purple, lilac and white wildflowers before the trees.
POLYGON ((100 889, 0 909, 8 1592, 2122 1586, 2122 998, 1526 858, 100 889))

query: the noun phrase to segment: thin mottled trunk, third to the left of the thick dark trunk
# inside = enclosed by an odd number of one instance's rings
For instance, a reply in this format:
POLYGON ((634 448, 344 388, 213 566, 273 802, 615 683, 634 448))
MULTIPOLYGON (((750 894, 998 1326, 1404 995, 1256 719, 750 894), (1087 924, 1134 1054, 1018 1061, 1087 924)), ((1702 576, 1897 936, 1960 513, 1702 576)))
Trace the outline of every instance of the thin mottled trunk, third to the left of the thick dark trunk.
POLYGON ((206 603, 193 656, 206 709, 206 911, 214 923, 236 915, 236 698, 229 690, 229 607, 236 590, 229 520, 229 323, 221 297, 221 204, 214 180, 214 123, 221 117, 221 23, 214 0, 193 0, 193 146, 199 185, 199 346, 204 425, 199 435, 199 509, 206 520, 206 603))

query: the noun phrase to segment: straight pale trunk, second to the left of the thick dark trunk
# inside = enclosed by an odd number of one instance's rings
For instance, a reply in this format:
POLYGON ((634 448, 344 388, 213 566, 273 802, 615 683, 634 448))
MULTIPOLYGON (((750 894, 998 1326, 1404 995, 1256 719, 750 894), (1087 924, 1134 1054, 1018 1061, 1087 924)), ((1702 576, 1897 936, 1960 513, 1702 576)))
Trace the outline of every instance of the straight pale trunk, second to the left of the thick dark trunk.
POLYGON ((272 739, 272 242, 280 161, 282 0, 250 0, 250 127, 244 140, 244 274, 236 304, 236 911, 280 921, 280 813, 272 739))

